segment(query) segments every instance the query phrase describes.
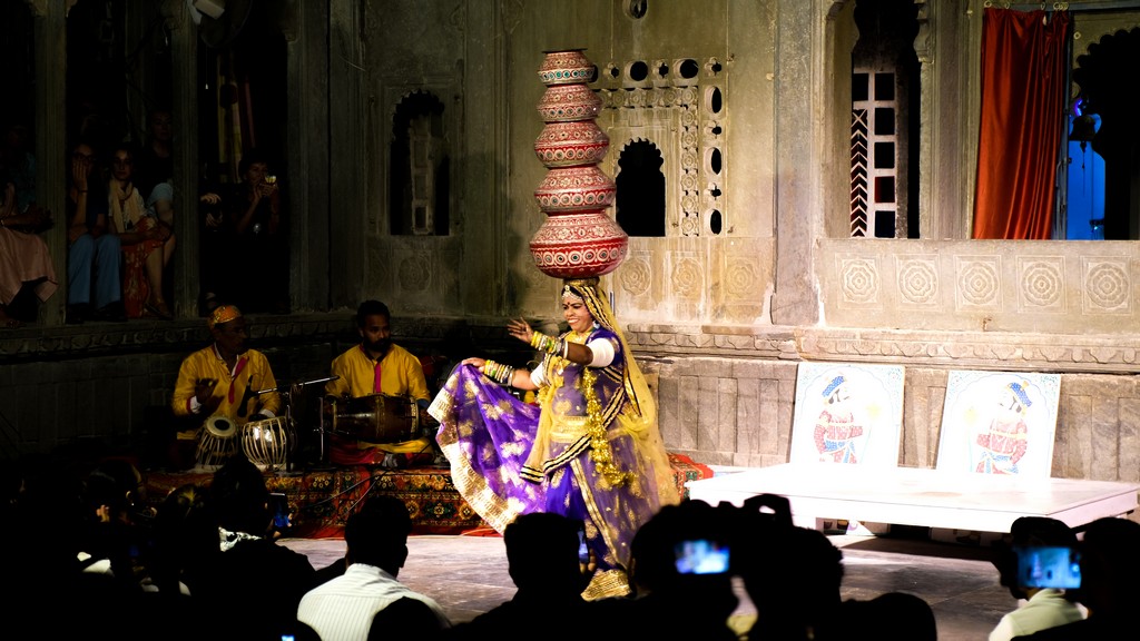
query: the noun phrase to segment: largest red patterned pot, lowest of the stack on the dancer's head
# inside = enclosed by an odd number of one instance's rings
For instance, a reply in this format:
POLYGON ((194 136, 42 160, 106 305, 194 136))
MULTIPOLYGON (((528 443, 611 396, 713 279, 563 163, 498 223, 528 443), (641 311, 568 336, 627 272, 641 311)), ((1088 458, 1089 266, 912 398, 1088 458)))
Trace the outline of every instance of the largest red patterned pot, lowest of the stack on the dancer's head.
POLYGON ((555 278, 588 278, 618 268, 629 237, 602 211, 548 216, 530 240, 535 266, 555 278))

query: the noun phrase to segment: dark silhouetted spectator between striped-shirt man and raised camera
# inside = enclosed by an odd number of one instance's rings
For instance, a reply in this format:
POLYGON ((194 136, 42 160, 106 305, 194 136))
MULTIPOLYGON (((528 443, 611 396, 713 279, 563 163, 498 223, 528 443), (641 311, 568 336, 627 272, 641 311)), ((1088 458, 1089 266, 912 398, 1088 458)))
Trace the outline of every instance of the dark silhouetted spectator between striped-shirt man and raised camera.
MULTIPOLYGON (((579 558, 581 521, 553 512, 515 517, 503 532, 511 581, 519 589, 506 603, 446 631, 443 639, 494 639, 508 630, 542 631, 543 639, 580 639, 560 622, 592 620, 581 593, 589 585, 579 558)), ((604 630, 600 627, 598 630, 604 630)))

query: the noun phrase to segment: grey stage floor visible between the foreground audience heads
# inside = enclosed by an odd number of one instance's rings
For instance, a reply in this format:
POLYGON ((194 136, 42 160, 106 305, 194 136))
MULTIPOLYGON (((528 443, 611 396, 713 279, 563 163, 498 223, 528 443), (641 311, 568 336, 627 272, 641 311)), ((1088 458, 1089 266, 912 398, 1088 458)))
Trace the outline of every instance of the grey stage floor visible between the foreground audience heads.
MULTIPOLYGON (((934 609, 939 641, 985 639, 1001 616, 1017 607, 997 584, 985 547, 898 537, 829 538, 844 552, 844 599, 872 599, 888 591, 921 597, 934 609)), ((283 543, 306 553, 318 568, 344 553, 342 539, 283 543)), ((454 622, 470 620, 514 594, 500 537, 412 536, 408 551, 399 579, 439 601, 454 622)), ((733 620, 747 626, 756 610, 740 585, 736 593, 741 605, 733 620)))

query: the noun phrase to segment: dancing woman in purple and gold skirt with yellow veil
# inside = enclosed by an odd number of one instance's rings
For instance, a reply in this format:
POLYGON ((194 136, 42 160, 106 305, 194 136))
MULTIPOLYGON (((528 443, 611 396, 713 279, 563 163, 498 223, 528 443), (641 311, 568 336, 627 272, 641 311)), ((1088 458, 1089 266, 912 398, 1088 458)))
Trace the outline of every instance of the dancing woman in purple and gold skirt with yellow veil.
POLYGON ((654 399, 597 278, 565 281, 562 310, 559 336, 507 325, 543 354, 534 371, 467 358, 429 413, 455 487, 490 526, 527 512, 581 519, 597 560, 585 595, 627 594, 630 539, 677 489, 654 399), (510 387, 537 391, 538 405, 510 387))

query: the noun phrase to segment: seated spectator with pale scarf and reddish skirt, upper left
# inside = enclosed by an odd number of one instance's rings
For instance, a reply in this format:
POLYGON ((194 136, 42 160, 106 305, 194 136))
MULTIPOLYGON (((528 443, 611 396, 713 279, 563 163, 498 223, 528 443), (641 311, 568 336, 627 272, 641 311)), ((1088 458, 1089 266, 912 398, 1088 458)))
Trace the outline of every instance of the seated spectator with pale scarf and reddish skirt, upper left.
POLYGON ((173 315, 163 298, 163 270, 166 243, 173 230, 153 210, 132 181, 135 154, 120 146, 112 156, 111 181, 107 186, 107 210, 111 230, 119 236, 123 253, 123 305, 129 318, 145 314, 171 319, 173 315))

